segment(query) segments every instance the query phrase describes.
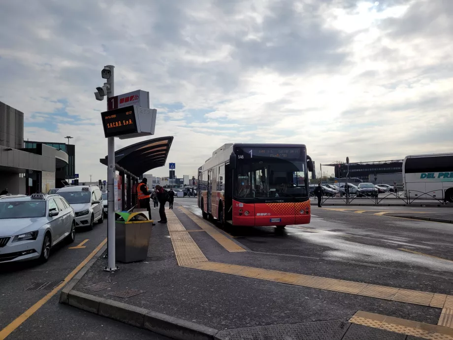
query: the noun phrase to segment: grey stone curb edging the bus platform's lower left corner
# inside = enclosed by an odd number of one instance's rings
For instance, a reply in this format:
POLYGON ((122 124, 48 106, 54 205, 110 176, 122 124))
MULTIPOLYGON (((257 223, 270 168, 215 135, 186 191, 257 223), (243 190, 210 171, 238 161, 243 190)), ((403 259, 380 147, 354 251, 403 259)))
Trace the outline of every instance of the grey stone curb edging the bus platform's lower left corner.
POLYGON ((213 340, 218 330, 122 302, 73 290, 74 286, 107 249, 105 244, 60 292, 60 303, 143 328, 176 340, 213 340))

